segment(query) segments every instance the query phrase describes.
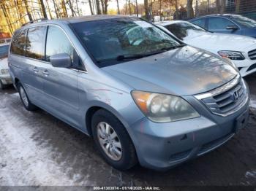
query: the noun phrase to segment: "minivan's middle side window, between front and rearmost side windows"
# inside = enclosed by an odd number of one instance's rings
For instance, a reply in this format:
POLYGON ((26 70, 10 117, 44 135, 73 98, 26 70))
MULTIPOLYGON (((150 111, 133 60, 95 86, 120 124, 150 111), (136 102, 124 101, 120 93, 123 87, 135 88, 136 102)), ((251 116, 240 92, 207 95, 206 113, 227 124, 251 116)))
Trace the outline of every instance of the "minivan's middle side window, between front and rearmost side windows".
POLYGON ((46 27, 29 28, 26 38, 26 57, 42 60, 45 58, 46 27))

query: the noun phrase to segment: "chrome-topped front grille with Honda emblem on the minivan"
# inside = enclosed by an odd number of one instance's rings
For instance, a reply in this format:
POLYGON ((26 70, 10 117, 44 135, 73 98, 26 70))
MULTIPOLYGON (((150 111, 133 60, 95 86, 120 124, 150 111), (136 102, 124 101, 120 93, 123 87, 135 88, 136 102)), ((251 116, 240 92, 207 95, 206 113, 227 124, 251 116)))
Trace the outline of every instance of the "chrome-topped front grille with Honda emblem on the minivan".
POLYGON ((195 97, 203 101, 203 104, 205 104, 212 113, 222 116, 236 112, 241 106, 244 106, 248 99, 244 82, 240 77, 236 77, 236 79, 217 88, 212 93, 196 95, 195 97))

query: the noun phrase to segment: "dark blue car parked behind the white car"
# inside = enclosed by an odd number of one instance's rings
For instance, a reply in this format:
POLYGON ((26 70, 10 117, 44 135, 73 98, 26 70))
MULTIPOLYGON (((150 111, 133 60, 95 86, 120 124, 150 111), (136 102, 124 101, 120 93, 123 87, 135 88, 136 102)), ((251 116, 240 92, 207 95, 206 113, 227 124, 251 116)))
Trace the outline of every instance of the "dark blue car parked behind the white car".
POLYGON ((189 21, 214 33, 240 34, 256 38, 256 20, 241 15, 208 15, 189 21))

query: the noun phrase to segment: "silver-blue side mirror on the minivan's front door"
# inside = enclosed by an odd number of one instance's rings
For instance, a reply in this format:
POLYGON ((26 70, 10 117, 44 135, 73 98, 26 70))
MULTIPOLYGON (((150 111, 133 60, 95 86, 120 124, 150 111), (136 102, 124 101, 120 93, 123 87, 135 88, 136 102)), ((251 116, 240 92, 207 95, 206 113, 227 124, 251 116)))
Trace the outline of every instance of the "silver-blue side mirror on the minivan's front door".
POLYGON ((50 63, 56 68, 70 68, 72 61, 67 53, 61 53, 50 56, 50 63))

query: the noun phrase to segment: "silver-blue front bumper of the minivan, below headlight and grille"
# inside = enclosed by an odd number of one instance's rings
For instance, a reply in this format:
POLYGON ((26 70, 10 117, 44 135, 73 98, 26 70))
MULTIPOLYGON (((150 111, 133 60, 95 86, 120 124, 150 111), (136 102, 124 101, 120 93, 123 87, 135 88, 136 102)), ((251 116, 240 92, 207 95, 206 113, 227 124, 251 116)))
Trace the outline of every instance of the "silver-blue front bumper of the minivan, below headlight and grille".
POLYGON ((130 133, 140 164, 165 171, 216 149, 237 133, 236 121, 241 114, 248 120, 249 101, 227 117, 207 111, 191 120, 156 123, 143 118, 132 125, 130 133))

